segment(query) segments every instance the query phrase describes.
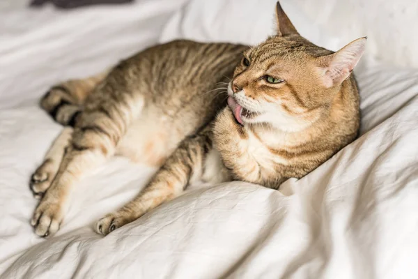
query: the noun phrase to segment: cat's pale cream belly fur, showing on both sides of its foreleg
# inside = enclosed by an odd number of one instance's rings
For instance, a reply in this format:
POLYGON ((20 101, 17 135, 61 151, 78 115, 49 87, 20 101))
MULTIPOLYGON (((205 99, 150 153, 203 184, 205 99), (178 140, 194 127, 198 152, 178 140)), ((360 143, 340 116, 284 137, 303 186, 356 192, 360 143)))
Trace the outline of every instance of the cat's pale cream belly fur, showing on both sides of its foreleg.
MULTIPOLYGON (((198 118, 198 114, 192 110, 189 112, 187 118, 178 119, 167 116, 156 107, 148 107, 118 142, 116 154, 130 158, 134 163, 160 167, 190 131, 200 125, 190 120, 198 118)), ((212 184, 230 181, 230 174, 216 149, 209 151, 204 160, 203 169, 194 172, 190 183, 196 180, 212 184)))

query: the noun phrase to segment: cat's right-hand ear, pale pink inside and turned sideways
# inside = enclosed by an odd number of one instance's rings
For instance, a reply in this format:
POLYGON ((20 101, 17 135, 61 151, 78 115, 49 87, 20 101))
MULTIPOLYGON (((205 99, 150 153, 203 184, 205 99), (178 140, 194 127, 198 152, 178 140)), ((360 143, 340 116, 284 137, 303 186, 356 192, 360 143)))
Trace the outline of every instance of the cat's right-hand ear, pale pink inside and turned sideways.
POLYGON ((325 87, 330 88, 346 80, 364 53, 366 39, 367 37, 353 40, 338 52, 319 58, 325 87))

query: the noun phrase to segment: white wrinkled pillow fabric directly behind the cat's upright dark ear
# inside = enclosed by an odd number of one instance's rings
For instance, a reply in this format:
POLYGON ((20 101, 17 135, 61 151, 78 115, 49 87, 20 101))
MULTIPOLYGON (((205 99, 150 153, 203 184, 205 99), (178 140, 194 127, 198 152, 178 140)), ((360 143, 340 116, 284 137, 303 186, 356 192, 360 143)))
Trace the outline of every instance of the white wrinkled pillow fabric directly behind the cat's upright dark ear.
MULTIPOLYGON (((160 42, 189 38, 204 42, 261 43, 276 33, 276 3, 277 0, 189 1, 166 24, 160 42)), ((314 25, 291 0, 280 3, 302 36, 330 50, 341 47, 338 37, 332 38, 314 25)))

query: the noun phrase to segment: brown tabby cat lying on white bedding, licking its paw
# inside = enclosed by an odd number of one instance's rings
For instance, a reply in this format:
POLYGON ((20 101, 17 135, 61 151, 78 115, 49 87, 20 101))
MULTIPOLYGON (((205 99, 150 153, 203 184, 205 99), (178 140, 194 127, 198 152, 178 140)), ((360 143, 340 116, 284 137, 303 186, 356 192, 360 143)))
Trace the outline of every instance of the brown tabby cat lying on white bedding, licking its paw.
POLYGON ((35 233, 56 233, 72 187, 114 155, 159 169, 137 197, 98 220, 104 235, 194 181, 278 189, 355 140, 351 72, 366 38, 332 52, 300 36, 279 3, 276 14, 277 34, 254 47, 175 40, 52 86, 40 105, 65 128, 31 179, 40 198, 35 233))

